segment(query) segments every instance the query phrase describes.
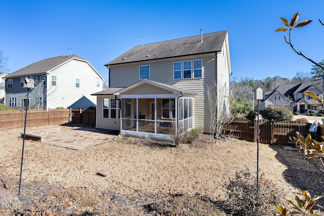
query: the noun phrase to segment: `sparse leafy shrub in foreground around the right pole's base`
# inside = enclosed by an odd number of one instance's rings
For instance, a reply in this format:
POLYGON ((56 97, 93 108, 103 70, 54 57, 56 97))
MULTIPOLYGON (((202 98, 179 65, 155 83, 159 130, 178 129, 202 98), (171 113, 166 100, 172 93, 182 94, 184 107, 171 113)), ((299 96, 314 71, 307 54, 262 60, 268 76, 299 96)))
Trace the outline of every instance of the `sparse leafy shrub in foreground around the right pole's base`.
POLYGON ((261 175, 259 196, 256 178, 249 169, 236 171, 235 177, 225 184, 227 204, 235 209, 237 215, 271 215, 275 213, 274 203, 284 201, 284 194, 269 180, 261 175))

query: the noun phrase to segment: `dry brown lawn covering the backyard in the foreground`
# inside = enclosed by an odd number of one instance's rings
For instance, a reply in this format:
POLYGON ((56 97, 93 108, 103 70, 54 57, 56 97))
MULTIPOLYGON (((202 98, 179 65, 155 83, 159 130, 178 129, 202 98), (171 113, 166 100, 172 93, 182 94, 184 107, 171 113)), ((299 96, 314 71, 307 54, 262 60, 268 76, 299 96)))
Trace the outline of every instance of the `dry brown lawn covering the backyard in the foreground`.
MULTIPOLYGON (((254 173, 257 167, 256 143, 234 139, 212 144, 208 135, 178 147, 118 138, 79 151, 26 140, 18 199, 21 132, 23 128, 0 132, 0 203, 16 205, 10 210, 0 206, 0 214, 15 210, 60 215, 74 210, 155 215, 145 205, 170 196, 224 201, 224 184, 235 171, 249 168, 254 173)), ((294 199, 299 189, 324 194, 323 174, 298 151, 260 144, 259 159, 260 174, 286 198, 294 199)))

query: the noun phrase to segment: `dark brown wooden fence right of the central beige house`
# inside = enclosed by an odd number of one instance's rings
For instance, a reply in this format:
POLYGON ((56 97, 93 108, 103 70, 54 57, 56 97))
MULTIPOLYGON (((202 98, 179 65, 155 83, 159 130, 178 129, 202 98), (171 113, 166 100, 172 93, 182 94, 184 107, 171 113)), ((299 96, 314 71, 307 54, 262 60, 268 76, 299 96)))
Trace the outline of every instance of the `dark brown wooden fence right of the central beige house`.
MULTIPOLYGON (((260 119, 260 143, 264 144, 288 144, 289 137, 296 137, 296 132, 303 136, 309 134, 311 123, 305 121, 279 121, 274 122, 260 119)), ((250 142, 257 142, 258 135, 258 121, 250 121, 244 118, 236 118, 230 124, 225 126, 225 131, 233 131, 233 137, 240 140, 247 140, 250 142)), ((323 134, 324 135, 324 134, 323 134)), ((320 137, 320 129, 317 130, 317 138, 320 137)))

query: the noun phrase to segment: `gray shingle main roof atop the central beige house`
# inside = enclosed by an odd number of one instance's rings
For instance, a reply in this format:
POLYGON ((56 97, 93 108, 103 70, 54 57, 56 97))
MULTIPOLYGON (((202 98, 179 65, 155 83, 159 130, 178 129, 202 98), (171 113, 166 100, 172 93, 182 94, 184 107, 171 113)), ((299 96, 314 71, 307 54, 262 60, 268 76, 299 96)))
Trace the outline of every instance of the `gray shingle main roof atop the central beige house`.
POLYGON ((108 62, 105 66, 195 54, 215 53, 221 51, 226 34, 227 31, 203 34, 203 42, 200 42, 200 35, 197 35, 136 46, 108 62))

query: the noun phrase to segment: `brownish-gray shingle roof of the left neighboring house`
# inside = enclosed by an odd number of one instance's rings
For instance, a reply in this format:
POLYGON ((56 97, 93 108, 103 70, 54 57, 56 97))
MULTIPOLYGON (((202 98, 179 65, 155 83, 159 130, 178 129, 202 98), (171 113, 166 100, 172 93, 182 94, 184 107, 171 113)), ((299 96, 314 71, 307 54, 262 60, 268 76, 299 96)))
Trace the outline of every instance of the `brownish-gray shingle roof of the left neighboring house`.
POLYGON ((63 64, 64 62, 66 62, 72 58, 85 60, 77 55, 58 56, 58 57, 54 57, 54 58, 44 59, 44 60, 32 63, 32 64, 30 64, 26 67, 23 67, 19 70, 16 70, 15 72, 9 73, 4 78, 7 79, 7 78, 12 78, 12 77, 22 77, 22 76, 33 75, 33 74, 42 74, 42 73, 52 70, 53 68, 63 64))

